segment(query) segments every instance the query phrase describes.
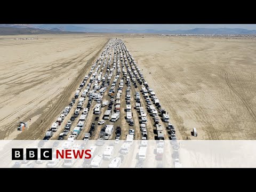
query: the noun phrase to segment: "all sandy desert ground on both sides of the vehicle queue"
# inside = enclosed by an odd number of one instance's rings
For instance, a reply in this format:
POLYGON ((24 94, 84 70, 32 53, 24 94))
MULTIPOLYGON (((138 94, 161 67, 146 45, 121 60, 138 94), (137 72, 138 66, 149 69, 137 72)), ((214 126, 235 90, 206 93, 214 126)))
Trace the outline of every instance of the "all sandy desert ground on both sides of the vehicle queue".
POLYGON ((256 138, 256 39, 70 34, 0 36, 0 139, 42 139, 113 37, 143 69, 178 139, 256 138), (29 123, 21 134, 19 118, 29 123))

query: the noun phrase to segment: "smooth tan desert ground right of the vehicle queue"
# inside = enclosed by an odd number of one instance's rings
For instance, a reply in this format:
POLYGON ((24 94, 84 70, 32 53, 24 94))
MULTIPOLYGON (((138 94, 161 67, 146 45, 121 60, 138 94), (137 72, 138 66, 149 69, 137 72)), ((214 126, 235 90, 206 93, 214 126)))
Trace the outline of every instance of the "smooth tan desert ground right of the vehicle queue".
POLYGON ((123 40, 169 111, 178 139, 256 139, 256 39, 123 40))

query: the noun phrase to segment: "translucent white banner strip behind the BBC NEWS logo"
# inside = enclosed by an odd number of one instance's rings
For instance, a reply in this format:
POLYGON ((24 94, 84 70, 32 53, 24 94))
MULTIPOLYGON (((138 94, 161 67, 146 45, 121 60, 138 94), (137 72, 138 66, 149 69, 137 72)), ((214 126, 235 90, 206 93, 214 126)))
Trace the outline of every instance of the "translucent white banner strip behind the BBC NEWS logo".
POLYGON ((1 140, 0 167, 256 167, 254 140, 1 140))

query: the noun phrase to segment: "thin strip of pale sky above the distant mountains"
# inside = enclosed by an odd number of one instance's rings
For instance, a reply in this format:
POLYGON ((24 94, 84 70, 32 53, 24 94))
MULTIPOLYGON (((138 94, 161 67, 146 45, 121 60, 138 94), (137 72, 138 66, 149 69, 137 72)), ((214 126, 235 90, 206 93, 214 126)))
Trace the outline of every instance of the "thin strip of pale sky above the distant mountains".
MULTIPOLYGON (((42 24, 31 24, 39 26, 42 24)), ((187 30, 194 28, 243 28, 249 30, 256 30, 256 24, 61 24, 89 27, 94 29, 155 29, 155 30, 187 30)))

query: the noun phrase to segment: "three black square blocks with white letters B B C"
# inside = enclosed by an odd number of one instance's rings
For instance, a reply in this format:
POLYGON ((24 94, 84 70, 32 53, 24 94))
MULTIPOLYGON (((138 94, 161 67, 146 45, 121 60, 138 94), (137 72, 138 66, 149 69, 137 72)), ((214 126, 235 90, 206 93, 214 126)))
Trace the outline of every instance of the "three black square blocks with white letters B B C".
MULTIPOLYGON (((12 160, 23 160, 24 153, 23 148, 13 148, 12 149, 12 160)), ((42 148, 40 149, 40 159, 41 160, 52 160, 52 149, 42 148)), ((37 148, 27 148, 26 149, 26 160, 38 160, 38 149, 37 148)))

